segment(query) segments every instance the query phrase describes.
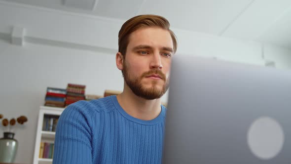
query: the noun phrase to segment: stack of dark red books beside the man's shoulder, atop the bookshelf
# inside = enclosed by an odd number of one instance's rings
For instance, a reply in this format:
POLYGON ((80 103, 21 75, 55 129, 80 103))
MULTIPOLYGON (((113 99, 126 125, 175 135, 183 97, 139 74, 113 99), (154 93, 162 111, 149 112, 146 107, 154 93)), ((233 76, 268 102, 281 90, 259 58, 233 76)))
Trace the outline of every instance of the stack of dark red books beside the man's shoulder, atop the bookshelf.
POLYGON ((79 100, 85 100, 86 85, 69 83, 67 87, 66 105, 70 105, 79 100))

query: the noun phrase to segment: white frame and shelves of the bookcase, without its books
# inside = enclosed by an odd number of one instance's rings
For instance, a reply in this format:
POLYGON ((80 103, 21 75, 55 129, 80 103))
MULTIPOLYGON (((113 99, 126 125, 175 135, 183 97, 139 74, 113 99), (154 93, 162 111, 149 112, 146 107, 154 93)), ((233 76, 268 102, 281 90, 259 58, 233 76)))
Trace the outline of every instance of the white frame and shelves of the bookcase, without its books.
POLYGON ((54 143, 55 141, 55 132, 53 131, 43 131, 42 124, 44 115, 54 115, 60 116, 65 108, 57 107, 47 107, 40 106, 38 113, 38 122, 36 129, 36 143, 35 143, 35 153, 34 153, 34 163, 33 164, 52 164, 52 159, 43 159, 39 158, 39 148, 41 142, 54 143))

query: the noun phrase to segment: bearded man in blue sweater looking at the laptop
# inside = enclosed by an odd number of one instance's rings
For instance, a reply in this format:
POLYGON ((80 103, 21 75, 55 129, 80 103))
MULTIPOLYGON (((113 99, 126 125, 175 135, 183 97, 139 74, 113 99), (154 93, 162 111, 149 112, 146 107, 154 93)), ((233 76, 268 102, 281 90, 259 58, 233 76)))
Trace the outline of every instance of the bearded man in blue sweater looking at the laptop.
POLYGON ((157 15, 126 21, 118 34, 116 66, 123 92, 68 106, 59 118, 53 164, 160 164, 169 86, 177 41, 157 15))

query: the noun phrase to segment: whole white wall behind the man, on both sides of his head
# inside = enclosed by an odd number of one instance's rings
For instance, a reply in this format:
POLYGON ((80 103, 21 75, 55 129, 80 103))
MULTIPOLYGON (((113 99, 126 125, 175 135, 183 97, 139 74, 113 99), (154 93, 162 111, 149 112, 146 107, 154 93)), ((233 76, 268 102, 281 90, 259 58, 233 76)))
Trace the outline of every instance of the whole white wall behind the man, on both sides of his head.
MULTIPOLYGON (((86 93, 100 95, 105 89, 122 90, 115 52, 123 22, 5 3, 0 3, 0 22, 0 113, 7 117, 28 116, 26 126, 16 131, 16 162, 31 164, 37 114, 47 86, 86 84, 86 93), (23 46, 10 43, 14 26, 26 29, 23 46)), ((274 61, 277 68, 291 68, 290 49, 175 28, 173 31, 179 41, 178 54, 256 65, 268 60, 274 61)), ((166 100, 167 95, 162 98, 166 100)))

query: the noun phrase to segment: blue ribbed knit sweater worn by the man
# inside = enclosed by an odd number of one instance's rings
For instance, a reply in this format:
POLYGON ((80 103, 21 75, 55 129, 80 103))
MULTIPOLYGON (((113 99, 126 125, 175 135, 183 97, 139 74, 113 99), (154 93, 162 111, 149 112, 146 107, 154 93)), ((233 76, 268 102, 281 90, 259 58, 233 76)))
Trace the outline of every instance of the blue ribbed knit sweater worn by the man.
POLYGON ((165 114, 136 119, 116 96, 78 101, 59 118, 53 164, 161 164, 165 114))

